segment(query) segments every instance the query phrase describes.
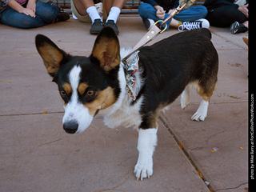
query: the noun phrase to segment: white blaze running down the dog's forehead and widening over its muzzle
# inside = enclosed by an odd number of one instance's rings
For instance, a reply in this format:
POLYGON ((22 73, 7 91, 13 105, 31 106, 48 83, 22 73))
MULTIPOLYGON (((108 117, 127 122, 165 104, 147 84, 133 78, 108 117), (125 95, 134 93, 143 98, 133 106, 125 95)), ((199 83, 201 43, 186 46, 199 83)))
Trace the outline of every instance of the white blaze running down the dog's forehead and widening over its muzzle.
POLYGON ((74 66, 73 69, 70 70, 69 80, 70 86, 72 87, 72 94, 70 101, 64 106, 65 114, 62 119, 63 124, 71 121, 78 122, 78 130, 76 134, 86 130, 94 118, 89 114, 89 110, 78 101, 78 84, 81 71, 82 69, 80 66, 74 66))

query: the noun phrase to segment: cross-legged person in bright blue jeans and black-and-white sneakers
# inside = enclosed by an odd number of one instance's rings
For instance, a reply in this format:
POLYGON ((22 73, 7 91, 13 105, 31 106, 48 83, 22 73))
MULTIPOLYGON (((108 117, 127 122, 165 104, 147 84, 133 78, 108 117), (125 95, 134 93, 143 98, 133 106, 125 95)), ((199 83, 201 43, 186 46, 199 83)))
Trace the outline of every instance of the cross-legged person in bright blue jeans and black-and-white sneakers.
MULTIPOLYGON (((175 8, 179 5, 179 0, 143 0, 138 7, 138 14, 150 30, 154 22, 162 19, 165 20, 175 8)), ((178 14, 166 22, 167 29, 169 26, 178 28, 178 30, 199 30, 202 27, 209 28, 209 22, 206 19, 207 9, 205 6, 190 6, 188 9, 181 10, 178 14)))

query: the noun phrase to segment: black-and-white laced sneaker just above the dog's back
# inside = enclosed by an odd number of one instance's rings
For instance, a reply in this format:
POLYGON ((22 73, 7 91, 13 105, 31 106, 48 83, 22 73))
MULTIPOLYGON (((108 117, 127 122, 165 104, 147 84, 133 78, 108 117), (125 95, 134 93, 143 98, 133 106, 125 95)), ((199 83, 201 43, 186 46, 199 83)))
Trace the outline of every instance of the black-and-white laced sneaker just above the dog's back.
POLYGON ((209 27, 210 23, 205 18, 200 18, 194 22, 183 22, 182 25, 178 26, 178 30, 200 30, 209 27))

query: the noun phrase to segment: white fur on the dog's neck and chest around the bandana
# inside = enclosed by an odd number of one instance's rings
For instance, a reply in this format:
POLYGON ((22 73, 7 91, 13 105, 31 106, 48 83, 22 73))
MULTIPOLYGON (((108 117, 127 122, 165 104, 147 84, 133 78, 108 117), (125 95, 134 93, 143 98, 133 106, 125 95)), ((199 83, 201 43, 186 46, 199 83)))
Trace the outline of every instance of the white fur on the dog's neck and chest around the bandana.
MULTIPOLYGON (((121 59, 126 57, 129 52, 130 49, 122 48, 120 51, 121 59)), ((141 86, 143 85, 142 78, 140 77, 141 72, 142 69, 139 69, 138 72, 135 73, 136 82, 133 89, 134 94, 136 95, 138 94, 141 86)), ((104 116, 105 125, 109 126, 110 128, 114 128, 117 126, 138 128, 138 126, 142 122, 139 111, 142 106, 143 96, 140 97, 134 105, 130 105, 130 102, 132 102, 132 98, 130 98, 126 91, 126 78, 123 70, 123 63, 120 64, 118 80, 120 83, 121 92, 119 94, 117 102, 115 102, 112 106, 108 107, 106 110, 102 110, 100 114, 104 116)))

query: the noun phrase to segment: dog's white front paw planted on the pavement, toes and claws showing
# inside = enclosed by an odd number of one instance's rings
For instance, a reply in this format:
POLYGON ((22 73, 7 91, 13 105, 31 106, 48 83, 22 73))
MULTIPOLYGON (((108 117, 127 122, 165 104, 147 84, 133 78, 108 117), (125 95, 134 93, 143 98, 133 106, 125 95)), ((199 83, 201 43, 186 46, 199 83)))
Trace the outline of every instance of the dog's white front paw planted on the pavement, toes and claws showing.
POLYGON ((138 159, 138 162, 134 167, 134 174, 137 180, 150 178, 150 176, 153 174, 153 159, 138 159))

